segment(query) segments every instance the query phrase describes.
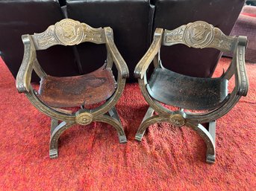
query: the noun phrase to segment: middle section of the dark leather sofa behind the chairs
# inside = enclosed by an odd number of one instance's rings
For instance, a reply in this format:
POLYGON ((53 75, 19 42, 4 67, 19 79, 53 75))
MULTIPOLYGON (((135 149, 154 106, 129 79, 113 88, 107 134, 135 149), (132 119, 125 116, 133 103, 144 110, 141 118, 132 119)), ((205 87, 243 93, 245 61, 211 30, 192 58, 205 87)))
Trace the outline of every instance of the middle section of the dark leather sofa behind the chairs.
MULTIPOLYGON (((67 1, 66 9, 70 19, 85 22, 92 27, 113 28, 116 47, 130 71, 128 81, 134 82, 135 65, 149 48, 152 33, 152 8, 149 1, 67 1)), ((84 73, 101 67, 106 59, 104 45, 84 43, 77 48, 84 73)))

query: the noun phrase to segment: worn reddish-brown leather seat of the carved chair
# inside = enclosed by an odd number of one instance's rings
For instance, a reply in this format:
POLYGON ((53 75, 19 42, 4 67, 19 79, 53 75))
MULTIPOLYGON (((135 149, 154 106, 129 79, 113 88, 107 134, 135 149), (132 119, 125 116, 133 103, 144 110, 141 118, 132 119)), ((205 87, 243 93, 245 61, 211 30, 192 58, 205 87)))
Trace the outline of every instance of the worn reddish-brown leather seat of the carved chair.
POLYGON ((40 82, 38 97, 51 107, 73 107, 100 103, 107 100, 115 89, 112 72, 103 66, 81 76, 46 76, 40 82))

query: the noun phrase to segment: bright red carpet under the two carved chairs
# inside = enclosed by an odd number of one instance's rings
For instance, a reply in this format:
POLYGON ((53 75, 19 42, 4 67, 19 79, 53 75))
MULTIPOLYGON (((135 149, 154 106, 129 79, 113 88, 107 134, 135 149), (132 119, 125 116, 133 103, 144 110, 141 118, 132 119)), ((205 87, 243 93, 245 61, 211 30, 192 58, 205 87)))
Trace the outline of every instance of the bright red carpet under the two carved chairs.
POLYGON ((256 65, 246 66, 249 95, 217 121, 210 165, 205 143, 187 127, 161 123, 134 140, 147 109, 137 84, 117 104, 127 144, 104 123, 74 126, 60 137, 59 158, 49 159, 50 119, 17 93, 0 59, 0 190, 255 190, 256 65))

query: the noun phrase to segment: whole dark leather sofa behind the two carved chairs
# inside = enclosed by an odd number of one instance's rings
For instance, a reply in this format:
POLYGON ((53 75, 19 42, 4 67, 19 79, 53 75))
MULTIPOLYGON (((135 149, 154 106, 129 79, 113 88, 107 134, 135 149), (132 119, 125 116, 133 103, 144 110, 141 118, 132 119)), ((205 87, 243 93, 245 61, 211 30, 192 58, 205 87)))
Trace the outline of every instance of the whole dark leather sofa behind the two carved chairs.
MULTIPOLYGON (((22 62, 21 35, 40 33, 65 17, 92 27, 113 28, 117 48, 130 70, 128 82, 134 82, 134 67, 149 48, 156 27, 172 30, 202 20, 231 32, 244 0, 12 0, 0 1, 0 54, 13 77, 22 62), (61 7, 63 6, 63 7, 61 7)), ((199 51, 184 45, 162 48, 163 65, 172 71, 195 77, 210 77, 219 60, 219 51, 199 51)), ((55 46, 37 52, 43 69, 54 76, 86 74, 102 66, 104 47, 84 43, 75 48, 55 46)), ((37 77, 32 81, 37 82, 37 77)))

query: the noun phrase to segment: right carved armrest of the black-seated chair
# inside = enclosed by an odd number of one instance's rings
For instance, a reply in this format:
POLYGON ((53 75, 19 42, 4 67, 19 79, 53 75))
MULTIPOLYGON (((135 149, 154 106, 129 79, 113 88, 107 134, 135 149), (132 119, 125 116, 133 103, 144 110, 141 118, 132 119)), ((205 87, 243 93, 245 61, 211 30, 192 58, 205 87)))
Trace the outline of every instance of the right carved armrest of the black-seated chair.
POLYGON ((246 62, 245 62, 245 51, 247 45, 246 36, 239 36, 236 48, 236 86, 237 94, 240 96, 246 96, 249 89, 249 80, 246 74, 246 62))

